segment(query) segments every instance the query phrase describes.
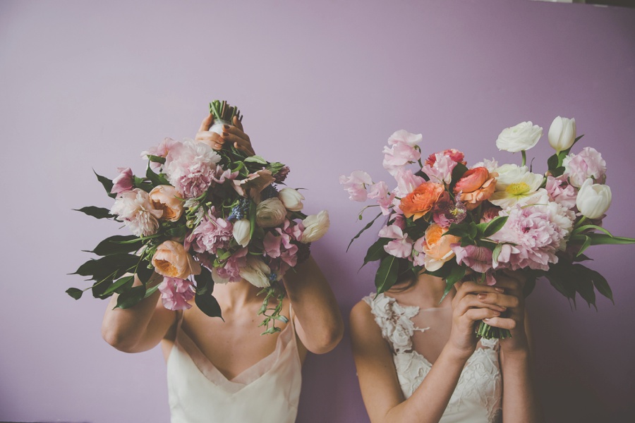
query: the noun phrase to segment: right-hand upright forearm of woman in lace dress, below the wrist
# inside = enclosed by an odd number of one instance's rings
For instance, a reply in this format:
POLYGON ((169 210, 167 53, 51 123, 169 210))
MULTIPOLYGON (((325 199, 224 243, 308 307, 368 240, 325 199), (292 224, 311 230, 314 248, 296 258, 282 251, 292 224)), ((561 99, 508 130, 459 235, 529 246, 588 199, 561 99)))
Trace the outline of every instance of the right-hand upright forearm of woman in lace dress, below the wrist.
POLYGON ((501 352, 503 422, 541 422, 529 349, 501 352))

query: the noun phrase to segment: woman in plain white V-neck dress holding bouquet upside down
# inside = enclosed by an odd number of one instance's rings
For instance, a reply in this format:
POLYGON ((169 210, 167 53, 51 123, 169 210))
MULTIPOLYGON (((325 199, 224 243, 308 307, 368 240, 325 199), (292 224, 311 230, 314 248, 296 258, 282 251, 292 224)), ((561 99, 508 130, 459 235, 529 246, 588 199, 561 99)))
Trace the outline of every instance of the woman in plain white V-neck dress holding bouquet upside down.
MULTIPOLYGON (((254 154, 238 118, 234 117, 233 125, 224 125, 222 134, 210 131, 213 120, 211 114, 205 118, 196 141, 215 150, 233 145, 254 154)), ((179 258, 171 261, 179 262, 179 258)), ((181 262, 186 274, 200 271, 191 257, 181 262)), ((160 264, 153 264, 158 271, 160 264)), ((155 274, 147 286, 163 280, 155 274)), ((265 336, 260 336, 262 328, 258 327, 261 288, 245 278, 214 285, 222 319, 202 312, 191 299, 193 295, 187 305, 172 309, 164 307, 166 300, 179 302, 183 297, 164 293, 162 302, 155 291, 137 305, 121 309, 115 308, 114 295, 104 316, 102 335, 127 353, 162 344, 174 423, 291 423, 296 419, 301 364, 307 351, 322 354, 332 350, 341 339, 343 324, 332 290, 311 257, 288 271, 282 283, 289 301, 284 301, 280 317, 274 321, 282 330, 265 336)), ((136 276, 135 284, 140 284, 136 276)), ((179 286, 174 292, 179 292, 179 286)), ((277 301, 271 298, 268 306, 276 307, 277 301)))

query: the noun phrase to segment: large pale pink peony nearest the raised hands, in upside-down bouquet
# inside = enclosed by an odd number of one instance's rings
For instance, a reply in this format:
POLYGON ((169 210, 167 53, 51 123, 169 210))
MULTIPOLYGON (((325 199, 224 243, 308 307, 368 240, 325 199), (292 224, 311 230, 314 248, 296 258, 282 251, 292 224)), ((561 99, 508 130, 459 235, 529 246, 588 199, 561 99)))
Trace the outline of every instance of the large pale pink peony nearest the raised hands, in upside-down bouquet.
POLYGON ((176 190, 186 198, 194 198, 210 188, 220 159, 204 142, 185 140, 171 146, 163 169, 176 190))

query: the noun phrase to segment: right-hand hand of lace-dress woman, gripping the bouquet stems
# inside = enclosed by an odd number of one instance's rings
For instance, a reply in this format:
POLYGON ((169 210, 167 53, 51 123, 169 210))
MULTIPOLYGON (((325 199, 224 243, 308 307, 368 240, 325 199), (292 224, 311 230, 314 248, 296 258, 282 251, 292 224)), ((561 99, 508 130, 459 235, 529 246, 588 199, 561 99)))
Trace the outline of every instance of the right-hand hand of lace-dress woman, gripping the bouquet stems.
POLYGON ((523 287, 526 277, 517 271, 500 271, 496 276, 496 288, 502 288, 503 293, 488 294, 483 302, 504 305, 507 311, 501 317, 492 317, 485 320, 485 323, 501 329, 509 329, 512 338, 500 340, 500 348, 506 353, 514 351, 528 350, 527 334, 525 331, 525 297, 523 287), (497 297, 501 298, 497 298, 497 297), (504 300, 502 300, 504 298, 504 300))

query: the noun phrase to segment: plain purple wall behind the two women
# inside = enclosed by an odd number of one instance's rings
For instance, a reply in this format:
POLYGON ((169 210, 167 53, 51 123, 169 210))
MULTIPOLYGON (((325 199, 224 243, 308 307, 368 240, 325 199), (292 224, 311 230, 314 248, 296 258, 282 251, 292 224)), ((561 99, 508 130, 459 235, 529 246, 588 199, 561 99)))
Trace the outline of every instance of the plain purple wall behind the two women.
MULTIPOLYGON (((528 0, 0 2, 2 243, 0 420, 168 422, 162 355, 126 355, 99 334, 105 302, 73 301, 66 276, 116 230, 71 208, 110 202, 91 168, 143 171, 140 151, 192 137, 215 98, 238 104, 255 148, 292 168, 307 209, 327 207, 314 248, 341 305, 372 290, 357 273, 368 233, 337 183, 399 128, 426 154, 471 163, 502 128, 575 117, 608 164, 605 226, 635 236, 635 11, 528 0)), ((536 169, 546 137, 531 151, 536 169)), ((618 422, 635 394, 635 248, 590 251, 616 305, 571 311, 548 283, 528 300, 550 422, 618 422)), ((367 422, 348 337, 310 357, 299 422, 367 422)))

